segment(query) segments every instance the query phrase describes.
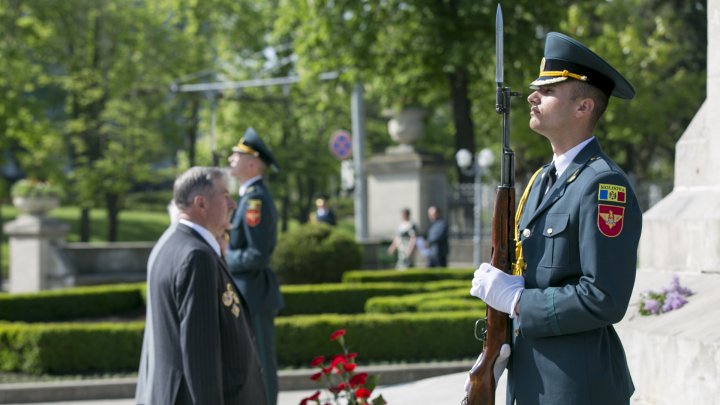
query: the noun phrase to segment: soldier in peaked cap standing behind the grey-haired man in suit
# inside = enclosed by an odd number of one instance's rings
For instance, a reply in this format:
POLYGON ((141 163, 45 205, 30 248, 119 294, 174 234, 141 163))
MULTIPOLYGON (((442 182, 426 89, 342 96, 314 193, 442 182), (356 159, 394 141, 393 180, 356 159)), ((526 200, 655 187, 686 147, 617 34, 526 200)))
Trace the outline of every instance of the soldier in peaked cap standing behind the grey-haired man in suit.
POLYGON ((283 307, 270 256, 277 241, 278 214, 263 183, 268 167, 279 170, 270 149, 248 128, 228 158, 230 173, 240 182, 226 258, 230 273, 245 297, 263 368, 268 405, 277 403, 278 378, 274 320, 283 307))

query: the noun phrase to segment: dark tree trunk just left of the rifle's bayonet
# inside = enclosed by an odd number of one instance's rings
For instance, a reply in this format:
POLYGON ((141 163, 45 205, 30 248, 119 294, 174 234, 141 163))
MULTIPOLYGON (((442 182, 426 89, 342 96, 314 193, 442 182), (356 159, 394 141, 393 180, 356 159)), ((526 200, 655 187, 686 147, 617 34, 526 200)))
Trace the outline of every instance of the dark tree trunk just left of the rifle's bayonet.
MULTIPOLYGON (((463 68, 448 75, 450 95, 452 97, 453 122, 455 123, 455 150, 467 149, 475 155, 475 125, 471 116, 471 103, 468 98, 469 78, 463 68)), ((473 176, 458 170, 461 183, 472 183, 473 176)))

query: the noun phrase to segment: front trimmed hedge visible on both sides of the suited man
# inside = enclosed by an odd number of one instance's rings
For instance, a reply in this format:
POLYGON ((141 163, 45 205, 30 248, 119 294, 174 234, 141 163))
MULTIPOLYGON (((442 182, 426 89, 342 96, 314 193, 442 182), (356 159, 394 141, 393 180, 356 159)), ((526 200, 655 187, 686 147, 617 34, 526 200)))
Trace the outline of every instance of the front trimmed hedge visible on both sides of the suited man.
MULTIPOLYGON (((302 315, 275 321, 280 366, 307 367, 337 352, 330 333, 346 329, 359 361, 455 360, 482 350, 473 337, 482 311, 431 314, 302 315)), ((137 370, 144 322, 26 324, 0 322, 0 370, 72 374, 137 370)))

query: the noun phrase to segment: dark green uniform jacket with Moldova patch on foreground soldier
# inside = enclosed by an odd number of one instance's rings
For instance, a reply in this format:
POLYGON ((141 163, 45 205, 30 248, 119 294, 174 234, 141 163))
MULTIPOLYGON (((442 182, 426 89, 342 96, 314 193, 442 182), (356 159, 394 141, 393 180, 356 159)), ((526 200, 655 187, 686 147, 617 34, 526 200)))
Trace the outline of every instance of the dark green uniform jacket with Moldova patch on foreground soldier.
POLYGON ((613 324, 635 282, 642 212, 623 171, 591 141, 519 221, 527 263, 513 322, 508 403, 627 403, 634 391, 613 324))

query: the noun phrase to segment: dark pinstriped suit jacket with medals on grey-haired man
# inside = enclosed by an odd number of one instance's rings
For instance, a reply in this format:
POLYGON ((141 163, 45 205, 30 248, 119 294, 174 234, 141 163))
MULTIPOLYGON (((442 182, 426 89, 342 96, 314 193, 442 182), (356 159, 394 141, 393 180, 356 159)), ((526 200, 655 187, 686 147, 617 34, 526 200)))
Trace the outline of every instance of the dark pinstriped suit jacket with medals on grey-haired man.
POLYGON ((147 301, 136 403, 265 402, 247 305, 190 227, 172 225, 153 248, 147 301))

